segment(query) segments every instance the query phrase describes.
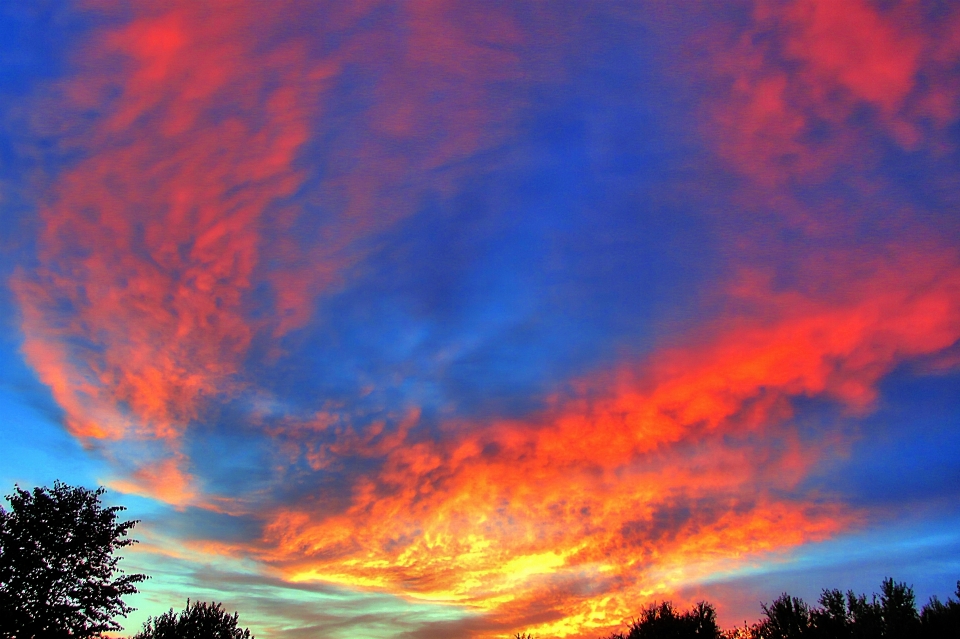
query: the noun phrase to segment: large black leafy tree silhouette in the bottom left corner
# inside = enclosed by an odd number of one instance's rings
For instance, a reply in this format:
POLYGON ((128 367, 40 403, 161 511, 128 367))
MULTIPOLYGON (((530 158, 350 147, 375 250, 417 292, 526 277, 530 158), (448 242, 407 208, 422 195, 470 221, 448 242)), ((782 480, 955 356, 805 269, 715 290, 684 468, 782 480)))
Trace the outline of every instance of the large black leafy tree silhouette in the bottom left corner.
POLYGON ((114 552, 135 543, 136 521, 104 508, 105 490, 59 481, 33 492, 14 487, 0 506, 0 637, 98 637, 133 610, 122 597, 145 575, 125 575, 114 552))

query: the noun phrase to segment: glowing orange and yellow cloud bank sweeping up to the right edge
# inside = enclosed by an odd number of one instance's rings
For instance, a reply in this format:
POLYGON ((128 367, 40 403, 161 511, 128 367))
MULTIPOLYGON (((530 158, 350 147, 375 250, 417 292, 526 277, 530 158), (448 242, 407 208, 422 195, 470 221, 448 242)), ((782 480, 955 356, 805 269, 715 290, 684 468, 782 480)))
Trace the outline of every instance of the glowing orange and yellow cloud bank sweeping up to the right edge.
POLYGON ((960 256, 925 249, 830 256, 851 274, 842 284, 816 266, 799 289, 745 273, 729 297, 749 312, 642 367, 583 380, 523 422, 450 423, 439 442, 409 425, 384 439, 378 425, 320 453, 315 431, 288 433, 325 464, 362 456, 382 466, 355 477, 342 512, 309 499, 275 512, 256 552, 291 580, 589 636, 639 600, 829 537, 859 515, 829 496, 782 496, 837 445, 797 438, 793 400, 862 412, 900 362, 960 339, 960 256), (544 609, 555 618, 532 623, 544 609))

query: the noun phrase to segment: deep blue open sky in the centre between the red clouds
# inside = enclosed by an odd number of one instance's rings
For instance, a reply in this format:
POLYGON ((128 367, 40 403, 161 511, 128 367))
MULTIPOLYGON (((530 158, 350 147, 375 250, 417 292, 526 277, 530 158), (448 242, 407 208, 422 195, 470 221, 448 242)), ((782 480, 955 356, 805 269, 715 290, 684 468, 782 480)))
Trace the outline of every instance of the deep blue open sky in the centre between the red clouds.
POLYGON ((381 403, 516 415, 645 352, 719 265, 714 219, 657 192, 695 153, 682 118, 650 99, 669 93, 649 62, 624 55, 581 62, 590 90, 532 91, 515 139, 379 238, 288 336, 293 357, 248 370, 293 406, 372 386, 381 403))

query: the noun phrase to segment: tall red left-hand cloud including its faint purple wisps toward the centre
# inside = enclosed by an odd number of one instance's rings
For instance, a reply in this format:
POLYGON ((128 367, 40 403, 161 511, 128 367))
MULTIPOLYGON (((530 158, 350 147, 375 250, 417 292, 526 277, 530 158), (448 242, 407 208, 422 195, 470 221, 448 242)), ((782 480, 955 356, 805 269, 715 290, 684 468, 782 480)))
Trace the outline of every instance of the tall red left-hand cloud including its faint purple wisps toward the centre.
POLYGON ((71 433, 159 441, 188 477, 178 442, 211 398, 247 386, 254 338, 303 326, 358 240, 443 188, 413 176, 491 143, 507 111, 485 112, 484 91, 515 61, 475 38, 515 38, 508 23, 489 13, 466 37, 447 5, 416 5, 391 45, 358 26, 376 5, 91 4, 107 26, 38 118, 72 157, 44 195, 38 267, 14 282, 24 354, 71 433), (319 31, 291 33, 304 16, 319 31), (344 30, 357 35, 321 54, 344 30), (378 94, 359 139, 340 141, 325 109, 344 69, 373 69, 378 94), (423 136, 438 141, 411 158, 402 140, 423 136), (306 153, 334 167, 319 184, 306 153))

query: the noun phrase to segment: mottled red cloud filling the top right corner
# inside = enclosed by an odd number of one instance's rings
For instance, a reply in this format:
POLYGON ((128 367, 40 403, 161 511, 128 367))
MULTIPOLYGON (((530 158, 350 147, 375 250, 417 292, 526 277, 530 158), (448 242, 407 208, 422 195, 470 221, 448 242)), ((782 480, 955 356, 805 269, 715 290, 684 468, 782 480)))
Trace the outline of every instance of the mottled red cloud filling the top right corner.
POLYGON ((878 140, 936 149, 960 115, 957 12, 866 0, 749 7, 744 28, 698 41, 712 43, 699 73, 721 91, 703 131, 734 170, 768 185, 822 180, 874 162, 878 140))

